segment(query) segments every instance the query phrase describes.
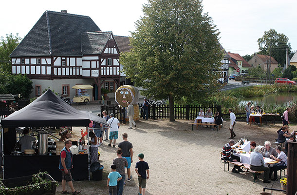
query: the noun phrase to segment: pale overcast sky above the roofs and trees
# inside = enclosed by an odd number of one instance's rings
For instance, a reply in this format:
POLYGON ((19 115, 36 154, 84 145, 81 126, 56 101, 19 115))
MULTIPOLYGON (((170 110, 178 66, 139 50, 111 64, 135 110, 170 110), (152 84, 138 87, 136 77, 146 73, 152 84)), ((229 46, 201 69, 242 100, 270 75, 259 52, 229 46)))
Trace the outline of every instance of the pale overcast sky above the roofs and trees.
MULTIPOLYGON (((23 38, 46 11, 89 16, 102 31, 130 36, 134 22, 143 16, 147 0, 14 0, 2 1, 0 37, 19 33, 23 38)), ((257 40, 273 28, 289 38, 297 50, 296 0, 203 0, 225 50, 241 56, 258 52, 257 40)))

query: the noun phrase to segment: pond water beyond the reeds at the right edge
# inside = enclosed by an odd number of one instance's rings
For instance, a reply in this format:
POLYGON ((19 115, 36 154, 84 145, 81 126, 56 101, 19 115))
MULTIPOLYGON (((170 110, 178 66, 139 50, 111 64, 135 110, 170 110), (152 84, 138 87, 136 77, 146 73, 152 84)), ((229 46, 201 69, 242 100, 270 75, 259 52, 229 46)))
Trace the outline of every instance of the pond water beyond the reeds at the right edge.
POLYGON ((253 98, 245 98, 241 101, 241 103, 246 104, 248 101, 253 101, 257 103, 275 103, 275 104, 283 104, 289 103, 289 101, 297 101, 297 93, 277 93, 270 94, 264 97, 253 97, 253 98))

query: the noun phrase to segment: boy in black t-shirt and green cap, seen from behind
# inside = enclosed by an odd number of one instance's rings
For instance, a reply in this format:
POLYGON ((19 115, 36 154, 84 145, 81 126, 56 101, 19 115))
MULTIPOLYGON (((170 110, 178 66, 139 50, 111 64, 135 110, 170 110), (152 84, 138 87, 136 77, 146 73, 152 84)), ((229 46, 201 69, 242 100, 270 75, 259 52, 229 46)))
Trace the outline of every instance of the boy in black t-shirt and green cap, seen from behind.
POLYGON ((138 155, 139 161, 136 162, 135 171, 138 175, 138 183, 139 183, 139 193, 138 195, 145 195, 146 194, 146 184, 147 178, 149 178, 149 171, 148 171, 148 163, 143 160, 144 154, 140 153, 138 155), (148 173, 148 176, 147 176, 148 173))

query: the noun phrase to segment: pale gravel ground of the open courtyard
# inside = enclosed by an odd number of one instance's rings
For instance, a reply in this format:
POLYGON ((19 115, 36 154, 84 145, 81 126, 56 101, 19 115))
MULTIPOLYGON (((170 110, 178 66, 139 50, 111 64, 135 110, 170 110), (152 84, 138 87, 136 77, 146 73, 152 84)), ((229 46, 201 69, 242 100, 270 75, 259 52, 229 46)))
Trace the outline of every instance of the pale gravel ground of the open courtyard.
MULTIPOLYGON (((138 194, 134 167, 139 153, 145 155, 144 159, 150 168, 147 195, 260 195, 263 187, 272 186, 272 183, 262 182, 262 175, 259 182, 253 183, 252 173, 234 174, 231 173, 232 168, 224 172, 219 152, 230 137, 228 121, 219 132, 209 128, 191 131, 189 122, 192 121, 141 119, 136 121, 135 129, 128 129, 128 124, 121 125, 116 144, 122 141, 120 135, 126 132, 134 152, 131 165, 133 179, 126 181, 124 194, 138 194)), ((279 128, 280 124, 259 127, 238 122, 234 130, 237 134, 235 141, 245 137, 256 141, 257 145, 264 145, 266 140, 273 143, 279 128)), ((80 129, 74 128, 74 134, 79 135, 80 129)), ((297 130, 297 127, 290 126, 290 131, 292 130, 297 130)), ((105 142, 104 147, 99 148, 100 163, 104 165, 103 180, 74 181, 74 188, 81 190, 82 195, 108 195, 107 175, 111 171, 110 166, 112 159, 116 157, 117 148, 108 147, 107 144, 105 142)), ((275 147, 274 144, 272 146, 275 147)), ((273 187, 280 189, 279 181, 275 182, 273 187)), ((61 185, 57 187, 57 194, 60 192, 61 185)), ((273 194, 282 193, 274 191, 273 194)))

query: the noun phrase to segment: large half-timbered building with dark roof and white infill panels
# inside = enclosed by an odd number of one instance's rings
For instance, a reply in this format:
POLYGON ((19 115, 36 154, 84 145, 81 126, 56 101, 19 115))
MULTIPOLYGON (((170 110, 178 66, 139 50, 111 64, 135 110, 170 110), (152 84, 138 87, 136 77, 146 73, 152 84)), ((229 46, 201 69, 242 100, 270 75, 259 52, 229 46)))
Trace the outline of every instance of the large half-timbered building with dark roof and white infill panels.
POLYGON ((50 87, 73 98, 72 86, 91 84, 88 93, 100 99, 101 87, 120 85, 119 53, 112 32, 102 32, 90 17, 46 11, 10 57, 12 73, 33 81, 31 97, 50 87))

